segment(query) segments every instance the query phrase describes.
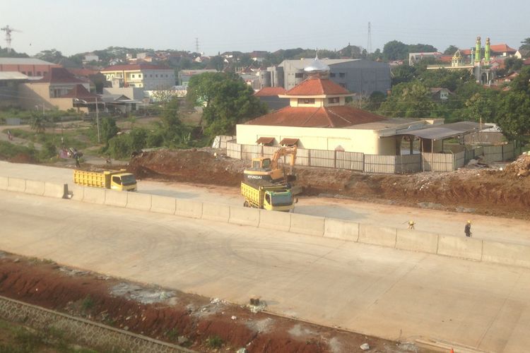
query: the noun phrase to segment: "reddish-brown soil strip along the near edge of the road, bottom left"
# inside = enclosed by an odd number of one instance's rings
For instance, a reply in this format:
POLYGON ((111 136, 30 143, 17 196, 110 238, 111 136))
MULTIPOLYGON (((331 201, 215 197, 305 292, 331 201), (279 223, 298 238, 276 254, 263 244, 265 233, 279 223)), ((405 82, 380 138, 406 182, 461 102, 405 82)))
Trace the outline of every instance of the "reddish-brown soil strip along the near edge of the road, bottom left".
POLYGON ((410 344, 348 333, 172 289, 1 253, 0 294, 73 316, 180 344, 199 352, 426 352, 410 344), (129 289, 117 294, 116 287, 129 289), (139 291, 161 293, 141 299, 139 291), (147 302, 152 304, 146 304, 147 302), (219 337, 222 347, 208 339, 219 337))

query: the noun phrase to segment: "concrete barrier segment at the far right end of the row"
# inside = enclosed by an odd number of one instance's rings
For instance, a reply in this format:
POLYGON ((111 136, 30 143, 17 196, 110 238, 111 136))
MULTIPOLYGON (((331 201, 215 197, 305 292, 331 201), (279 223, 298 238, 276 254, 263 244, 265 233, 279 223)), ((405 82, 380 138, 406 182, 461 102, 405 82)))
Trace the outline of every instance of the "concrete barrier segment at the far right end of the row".
POLYGON ((530 246, 483 240, 482 261, 530 268, 530 246))

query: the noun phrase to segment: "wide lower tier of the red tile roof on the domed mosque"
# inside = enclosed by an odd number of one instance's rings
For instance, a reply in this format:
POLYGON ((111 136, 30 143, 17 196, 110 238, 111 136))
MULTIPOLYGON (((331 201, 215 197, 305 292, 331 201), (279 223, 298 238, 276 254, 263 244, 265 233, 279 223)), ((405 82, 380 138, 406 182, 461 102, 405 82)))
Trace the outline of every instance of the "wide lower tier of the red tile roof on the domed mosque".
POLYGON ((343 128, 373 121, 386 120, 384 116, 365 112, 350 106, 285 107, 247 121, 249 125, 298 126, 308 128, 343 128))

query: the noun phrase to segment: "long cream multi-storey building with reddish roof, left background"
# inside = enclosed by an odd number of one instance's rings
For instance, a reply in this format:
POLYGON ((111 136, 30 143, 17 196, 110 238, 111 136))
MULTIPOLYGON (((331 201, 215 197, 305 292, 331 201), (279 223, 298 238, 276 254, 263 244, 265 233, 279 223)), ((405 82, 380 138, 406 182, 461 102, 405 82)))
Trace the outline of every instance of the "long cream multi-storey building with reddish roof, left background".
POLYGON ((175 71, 153 64, 115 65, 101 70, 112 87, 136 87, 144 90, 167 90, 175 85, 175 71))

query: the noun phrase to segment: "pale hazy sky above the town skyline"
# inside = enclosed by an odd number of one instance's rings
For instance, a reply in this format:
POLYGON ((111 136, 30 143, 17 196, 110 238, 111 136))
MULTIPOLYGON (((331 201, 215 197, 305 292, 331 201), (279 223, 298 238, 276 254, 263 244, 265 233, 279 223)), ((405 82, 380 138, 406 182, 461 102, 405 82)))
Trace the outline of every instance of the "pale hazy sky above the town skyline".
MULTIPOLYGON (((519 48, 530 37, 530 0, 1 0, 0 27, 11 47, 69 56, 95 49, 143 47, 218 52, 295 47, 372 51, 390 40, 474 46, 477 35, 519 48)), ((0 32, 0 47, 6 47, 0 32)))

